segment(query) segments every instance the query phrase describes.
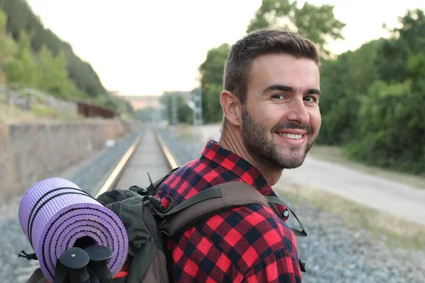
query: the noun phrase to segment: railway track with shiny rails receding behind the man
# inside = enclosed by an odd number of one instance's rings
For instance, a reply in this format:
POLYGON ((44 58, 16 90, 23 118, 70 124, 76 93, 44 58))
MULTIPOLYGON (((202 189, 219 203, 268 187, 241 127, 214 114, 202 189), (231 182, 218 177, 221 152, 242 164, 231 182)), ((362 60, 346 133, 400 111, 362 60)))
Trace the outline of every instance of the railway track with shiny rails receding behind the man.
MULTIPOLYGON (((147 128, 136 137, 111 173, 101 183, 101 187, 92 195, 98 197, 108 190, 127 189, 131 185, 147 186, 149 185, 147 173, 152 180, 157 180, 177 166, 176 159, 172 156, 161 135, 153 129, 147 128)), ((14 283, 26 282, 34 270, 39 267, 39 262, 36 260, 26 263, 28 265, 20 267, 16 272, 18 276, 14 283)))

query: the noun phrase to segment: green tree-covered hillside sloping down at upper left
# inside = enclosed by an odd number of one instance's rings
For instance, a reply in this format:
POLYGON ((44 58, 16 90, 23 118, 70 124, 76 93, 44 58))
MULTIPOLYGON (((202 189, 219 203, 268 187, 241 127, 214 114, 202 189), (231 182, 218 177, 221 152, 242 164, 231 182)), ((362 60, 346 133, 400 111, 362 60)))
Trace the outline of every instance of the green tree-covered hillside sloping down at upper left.
POLYGON ((45 29, 24 0, 0 0, 1 82, 134 115, 130 103, 109 96, 91 65, 45 29))

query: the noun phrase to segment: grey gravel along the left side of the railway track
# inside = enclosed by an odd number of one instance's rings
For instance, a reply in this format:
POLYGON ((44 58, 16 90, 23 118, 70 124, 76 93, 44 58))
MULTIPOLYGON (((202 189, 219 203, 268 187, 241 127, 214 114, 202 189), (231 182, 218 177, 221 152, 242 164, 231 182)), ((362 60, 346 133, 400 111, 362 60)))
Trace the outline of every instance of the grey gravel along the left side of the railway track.
MULTIPOLYGON (((82 161, 83 166, 77 166, 69 173, 60 174, 79 185, 81 189, 91 194, 96 193, 108 173, 113 170, 120 158, 128 150, 138 132, 128 134, 99 154, 95 154, 89 161, 82 161)), ((34 250, 24 235, 18 220, 18 207, 22 196, 9 202, 7 207, 0 208, 0 282, 21 283, 26 282, 38 261, 18 258, 21 250, 33 253, 34 250)))

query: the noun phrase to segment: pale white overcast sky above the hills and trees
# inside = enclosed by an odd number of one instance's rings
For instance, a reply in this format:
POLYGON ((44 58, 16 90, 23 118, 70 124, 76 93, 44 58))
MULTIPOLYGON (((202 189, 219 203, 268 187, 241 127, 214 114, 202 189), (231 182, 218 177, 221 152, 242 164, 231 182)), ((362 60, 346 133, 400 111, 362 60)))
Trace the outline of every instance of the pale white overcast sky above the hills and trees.
MULTIPOLYGON (((304 1, 299 1, 303 3, 304 1)), ((397 25, 424 0, 312 0, 332 4, 346 23, 346 40, 331 42, 336 53, 387 37, 382 23, 397 25)), ((232 44, 245 33, 261 0, 28 0, 45 28, 69 42, 109 91, 161 95, 197 86, 207 51, 232 44)))

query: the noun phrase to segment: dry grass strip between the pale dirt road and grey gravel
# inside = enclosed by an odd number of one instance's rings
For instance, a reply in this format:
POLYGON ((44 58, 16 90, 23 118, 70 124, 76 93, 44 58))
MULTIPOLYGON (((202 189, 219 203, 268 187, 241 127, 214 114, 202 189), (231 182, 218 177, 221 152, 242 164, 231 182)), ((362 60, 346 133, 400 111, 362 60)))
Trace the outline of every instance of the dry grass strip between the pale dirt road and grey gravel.
POLYGON ((325 212, 341 216, 347 224, 358 224, 370 231, 375 238, 383 238, 390 248, 425 249, 425 226, 397 219, 395 216, 311 187, 289 185, 285 186, 285 190, 276 190, 292 202, 308 203, 325 212))

